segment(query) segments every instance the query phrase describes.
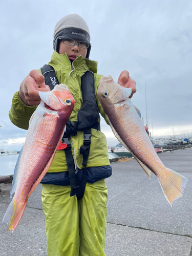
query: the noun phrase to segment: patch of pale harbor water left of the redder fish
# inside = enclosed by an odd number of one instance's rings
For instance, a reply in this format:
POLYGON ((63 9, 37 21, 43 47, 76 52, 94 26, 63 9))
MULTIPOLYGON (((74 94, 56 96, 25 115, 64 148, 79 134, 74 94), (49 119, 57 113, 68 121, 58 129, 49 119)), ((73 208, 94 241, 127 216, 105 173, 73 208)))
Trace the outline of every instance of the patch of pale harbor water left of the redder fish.
POLYGON ((0 175, 12 175, 18 154, 0 156, 0 175))

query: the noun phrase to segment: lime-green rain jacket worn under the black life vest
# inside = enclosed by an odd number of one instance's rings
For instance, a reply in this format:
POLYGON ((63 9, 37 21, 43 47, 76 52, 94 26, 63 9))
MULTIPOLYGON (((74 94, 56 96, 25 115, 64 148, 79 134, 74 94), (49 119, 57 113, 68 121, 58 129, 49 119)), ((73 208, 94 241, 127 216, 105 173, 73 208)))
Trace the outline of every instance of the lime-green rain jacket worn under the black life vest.
MULTIPOLYGON (((58 54, 57 52, 53 52, 51 61, 48 64, 54 68, 59 83, 66 84, 75 99, 74 109, 70 116, 70 121, 74 122, 77 122, 77 113, 83 103, 81 93, 81 76, 86 73, 86 71, 91 70, 94 73, 95 78, 95 98, 98 110, 106 123, 109 124, 106 114, 104 113, 97 97, 97 88, 102 75, 97 74, 96 61, 85 59, 81 55, 73 61, 72 68, 71 62, 66 53, 58 54)), ((27 106, 18 96, 18 92, 16 92, 12 99, 9 118, 11 122, 19 128, 28 130, 29 119, 36 108, 37 106, 27 106)), ((98 119, 98 122, 100 122, 100 118, 98 119)), ((91 133, 91 146, 87 167, 110 165, 105 135, 95 129, 91 129, 91 133)), ((71 136, 70 138, 75 168, 78 167, 79 169, 84 167, 82 165, 83 156, 79 153, 80 146, 83 145, 83 139, 83 131, 77 131, 77 135, 71 136)), ((66 172, 67 170, 68 167, 65 151, 57 150, 48 173, 66 172)))

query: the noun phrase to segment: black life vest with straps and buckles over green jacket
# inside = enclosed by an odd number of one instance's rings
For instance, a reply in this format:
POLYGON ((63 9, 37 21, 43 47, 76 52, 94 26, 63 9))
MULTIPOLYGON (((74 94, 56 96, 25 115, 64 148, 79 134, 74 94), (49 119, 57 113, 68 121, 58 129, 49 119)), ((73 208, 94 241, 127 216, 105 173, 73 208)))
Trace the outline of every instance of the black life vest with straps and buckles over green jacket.
MULTIPOLYGON (((45 77, 45 83, 51 90, 59 84, 55 74, 55 70, 50 65, 44 65, 41 69, 42 75, 45 77)), ((81 77, 81 91, 83 104, 77 114, 77 122, 67 121, 66 132, 62 137, 62 143, 67 144, 65 148, 66 160, 69 170, 71 196, 76 194, 77 199, 81 199, 84 194, 87 180, 86 165, 89 157, 90 144, 91 144, 91 128, 100 131, 100 123, 97 121, 99 112, 95 100, 95 84, 94 74, 90 70, 83 74, 81 77), (79 153, 83 155, 83 163, 85 166, 81 181, 78 180, 76 175, 75 164, 71 152, 70 136, 76 135, 77 131, 84 132, 83 145, 80 147, 79 153)))

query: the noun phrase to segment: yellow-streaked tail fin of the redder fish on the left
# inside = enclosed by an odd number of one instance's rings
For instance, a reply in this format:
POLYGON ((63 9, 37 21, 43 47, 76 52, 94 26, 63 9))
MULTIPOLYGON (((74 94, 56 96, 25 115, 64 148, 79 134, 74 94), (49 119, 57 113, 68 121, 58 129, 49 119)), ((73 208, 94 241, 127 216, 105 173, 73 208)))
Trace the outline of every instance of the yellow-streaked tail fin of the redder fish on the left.
POLYGON ((5 222, 9 225, 8 230, 14 231, 20 219, 22 219, 26 206, 27 201, 16 203, 14 198, 12 199, 3 219, 3 223, 5 222))

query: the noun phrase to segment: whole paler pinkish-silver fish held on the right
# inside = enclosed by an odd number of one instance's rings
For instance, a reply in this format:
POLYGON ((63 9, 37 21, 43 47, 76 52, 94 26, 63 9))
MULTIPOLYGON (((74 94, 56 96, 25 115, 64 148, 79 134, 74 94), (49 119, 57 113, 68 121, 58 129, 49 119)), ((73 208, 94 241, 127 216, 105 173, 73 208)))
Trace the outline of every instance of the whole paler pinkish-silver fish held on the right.
POLYGON ((166 168, 157 156, 138 115, 139 110, 129 98, 131 93, 131 88, 119 86, 112 77, 102 77, 97 96, 116 138, 133 154, 148 177, 151 171, 158 177, 165 198, 172 205, 183 195, 188 180, 166 168))

